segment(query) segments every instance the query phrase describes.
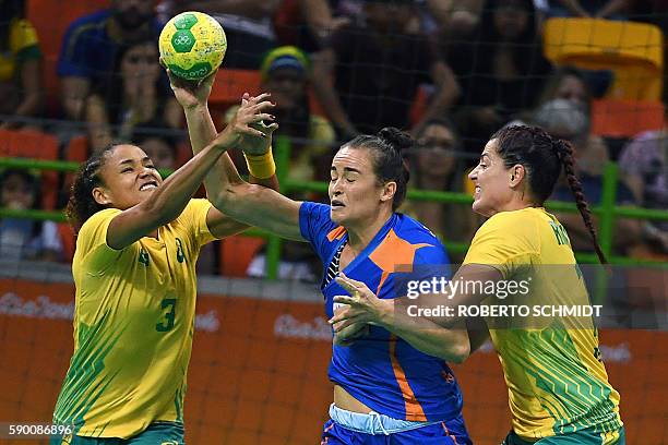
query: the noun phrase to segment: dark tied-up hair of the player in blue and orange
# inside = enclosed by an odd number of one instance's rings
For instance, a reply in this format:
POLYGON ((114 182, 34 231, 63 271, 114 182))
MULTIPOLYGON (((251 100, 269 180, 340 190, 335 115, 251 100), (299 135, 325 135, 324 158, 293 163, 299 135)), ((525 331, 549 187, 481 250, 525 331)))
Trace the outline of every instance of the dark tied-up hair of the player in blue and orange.
POLYGON ((367 148, 373 154, 373 172, 380 184, 396 182, 396 192, 392 197, 392 211, 395 212, 406 199, 406 189, 410 171, 404 161, 403 151, 414 145, 413 139, 394 127, 386 127, 377 135, 360 134, 342 148, 367 148))

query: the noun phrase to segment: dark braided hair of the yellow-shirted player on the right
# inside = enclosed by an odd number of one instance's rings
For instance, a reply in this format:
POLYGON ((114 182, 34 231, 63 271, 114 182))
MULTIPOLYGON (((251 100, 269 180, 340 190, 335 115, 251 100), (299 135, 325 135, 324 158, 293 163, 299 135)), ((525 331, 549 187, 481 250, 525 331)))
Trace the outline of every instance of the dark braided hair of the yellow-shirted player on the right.
POLYGON ((506 168, 520 164, 526 169, 528 184, 538 205, 542 205, 552 194, 563 168, 580 215, 589 231, 596 255, 601 264, 607 264, 606 255, 598 244, 592 212, 582 183, 575 175, 573 146, 566 141, 551 137, 538 127, 527 125, 505 127, 491 139, 498 141, 497 151, 506 168))

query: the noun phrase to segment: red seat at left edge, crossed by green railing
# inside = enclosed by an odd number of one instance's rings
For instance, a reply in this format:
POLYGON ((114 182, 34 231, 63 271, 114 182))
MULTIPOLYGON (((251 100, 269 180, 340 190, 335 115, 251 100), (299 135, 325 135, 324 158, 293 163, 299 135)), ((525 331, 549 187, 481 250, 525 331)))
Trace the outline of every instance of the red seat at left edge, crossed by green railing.
MULTIPOLYGON (((0 156, 24 157, 44 160, 58 159, 58 140, 39 131, 0 130, 0 156)), ((56 208, 58 199, 58 173, 44 171, 41 181, 41 207, 56 208)))

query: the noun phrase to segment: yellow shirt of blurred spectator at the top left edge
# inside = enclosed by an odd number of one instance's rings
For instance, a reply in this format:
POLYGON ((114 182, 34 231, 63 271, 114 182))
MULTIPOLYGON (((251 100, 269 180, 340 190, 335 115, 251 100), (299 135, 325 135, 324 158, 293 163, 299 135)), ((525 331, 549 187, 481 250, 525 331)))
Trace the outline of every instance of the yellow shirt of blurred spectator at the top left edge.
POLYGON ((9 33, 9 51, 0 52, 0 82, 14 79, 16 62, 38 59, 37 32, 27 20, 12 19, 9 33))

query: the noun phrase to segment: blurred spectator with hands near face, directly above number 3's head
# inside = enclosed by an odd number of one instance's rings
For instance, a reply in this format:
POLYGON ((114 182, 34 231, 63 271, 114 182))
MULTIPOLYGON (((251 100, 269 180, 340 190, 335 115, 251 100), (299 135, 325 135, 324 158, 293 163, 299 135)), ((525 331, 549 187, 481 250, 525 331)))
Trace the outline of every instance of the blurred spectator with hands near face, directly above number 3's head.
POLYGON ((102 149, 112 140, 130 141, 140 122, 164 121, 180 128, 183 112, 163 82, 155 40, 119 47, 114 69, 86 99, 91 145, 102 149))

